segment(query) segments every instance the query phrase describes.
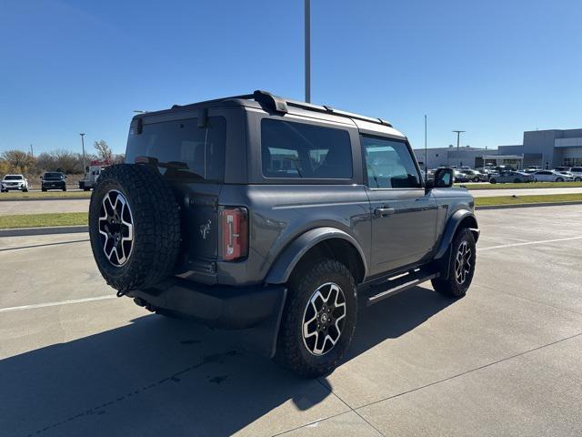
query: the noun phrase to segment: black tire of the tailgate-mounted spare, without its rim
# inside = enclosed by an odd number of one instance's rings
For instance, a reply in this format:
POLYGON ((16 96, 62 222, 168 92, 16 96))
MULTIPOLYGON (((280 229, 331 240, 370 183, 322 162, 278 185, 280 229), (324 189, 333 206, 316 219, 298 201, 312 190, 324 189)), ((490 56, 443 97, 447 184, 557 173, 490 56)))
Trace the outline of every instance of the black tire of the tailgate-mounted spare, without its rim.
POLYGON ((111 287, 123 292, 146 289, 171 275, 180 249, 180 216, 176 198, 156 169, 119 164, 99 177, 89 206, 91 249, 99 271, 111 287), (133 247, 124 265, 105 255, 99 216, 104 198, 121 193, 133 219, 133 247))

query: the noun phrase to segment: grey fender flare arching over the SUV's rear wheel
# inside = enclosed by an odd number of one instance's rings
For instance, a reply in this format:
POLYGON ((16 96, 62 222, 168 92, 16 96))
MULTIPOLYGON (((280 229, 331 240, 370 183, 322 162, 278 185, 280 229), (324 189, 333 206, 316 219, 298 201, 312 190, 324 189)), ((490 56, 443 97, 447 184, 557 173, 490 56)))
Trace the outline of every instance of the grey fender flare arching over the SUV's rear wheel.
POLYGON ((291 244, 287 245, 276 258, 271 269, 269 269, 265 282, 267 284, 286 283, 291 272, 295 269, 297 263, 303 258, 307 251, 326 239, 344 239, 354 246, 359 253, 362 265, 364 266, 364 278, 366 278, 366 256, 357 240, 341 229, 323 227, 307 230, 294 239, 291 244))

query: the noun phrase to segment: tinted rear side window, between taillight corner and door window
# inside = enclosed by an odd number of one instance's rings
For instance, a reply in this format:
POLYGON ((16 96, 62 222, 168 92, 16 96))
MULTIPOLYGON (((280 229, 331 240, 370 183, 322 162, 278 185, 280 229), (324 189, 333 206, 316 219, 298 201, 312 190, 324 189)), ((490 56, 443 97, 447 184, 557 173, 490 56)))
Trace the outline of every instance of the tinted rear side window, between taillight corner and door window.
POLYGON ((352 147, 343 129, 264 118, 261 150, 266 178, 352 178, 352 147))

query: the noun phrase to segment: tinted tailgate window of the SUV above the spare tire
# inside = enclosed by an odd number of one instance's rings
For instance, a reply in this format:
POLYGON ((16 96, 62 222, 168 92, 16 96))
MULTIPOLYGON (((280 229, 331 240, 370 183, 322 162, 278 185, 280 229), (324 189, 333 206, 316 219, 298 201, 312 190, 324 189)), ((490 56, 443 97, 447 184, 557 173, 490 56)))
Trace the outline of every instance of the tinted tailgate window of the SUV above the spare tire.
POLYGON ((198 127, 197 118, 165 121, 130 132, 125 162, 155 163, 165 178, 222 182, 225 148, 224 117, 208 117, 207 127, 198 127))

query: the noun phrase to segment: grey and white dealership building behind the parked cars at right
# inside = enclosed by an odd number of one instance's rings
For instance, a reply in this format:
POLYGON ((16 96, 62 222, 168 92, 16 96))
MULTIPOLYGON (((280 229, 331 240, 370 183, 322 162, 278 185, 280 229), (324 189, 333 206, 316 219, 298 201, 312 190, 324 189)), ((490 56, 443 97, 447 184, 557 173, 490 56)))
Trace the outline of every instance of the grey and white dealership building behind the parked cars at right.
POLYGON ((516 168, 539 166, 582 166, 582 128, 531 130, 524 132, 523 144, 480 147, 437 147, 415 149, 416 159, 428 168, 439 166, 510 165, 516 168))

